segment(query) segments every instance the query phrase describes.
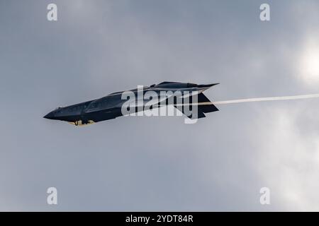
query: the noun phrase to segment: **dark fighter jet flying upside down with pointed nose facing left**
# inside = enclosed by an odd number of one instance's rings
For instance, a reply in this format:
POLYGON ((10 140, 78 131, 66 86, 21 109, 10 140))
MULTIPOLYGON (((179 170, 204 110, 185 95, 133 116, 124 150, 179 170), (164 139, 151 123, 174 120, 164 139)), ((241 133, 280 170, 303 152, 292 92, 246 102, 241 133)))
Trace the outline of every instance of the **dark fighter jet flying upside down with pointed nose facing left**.
POLYGON ((144 107, 147 105, 148 109, 155 109, 156 107, 162 107, 164 105, 174 105, 174 107, 177 107, 186 117, 199 119, 206 117, 204 113, 218 111, 215 105, 202 93, 204 90, 217 84, 218 83, 197 85, 194 83, 163 82, 157 85, 154 84, 143 87, 142 90, 138 88, 111 93, 96 100, 89 100, 67 107, 58 107, 45 115, 44 118, 67 121, 76 126, 80 126, 126 115, 125 113, 123 114, 123 105, 127 106, 127 109, 134 108, 135 112, 144 111, 144 107), (145 93, 148 91, 151 91, 149 93, 152 93, 152 98, 145 98, 145 93), (123 93, 133 94, 136 98, 128 100, 127 96, 123 98, 123 93), (162 93, 165 93, 165 95, 162 95, 162 93), (176 93, 179 95, 176 95, 176 93), (154 94, 158 95, 158 98, 154 98, 154 94), (140 102, 141 96, 142 102, 140 102), (178 101, 178 98, 181 98, 181 101, 178 101), (189 99, 187 102, 186 98, 189 99), (189 114, 189 111, 186 114, 186 105, 189 105, 190 108, 197 106, 196 115, 189 114))

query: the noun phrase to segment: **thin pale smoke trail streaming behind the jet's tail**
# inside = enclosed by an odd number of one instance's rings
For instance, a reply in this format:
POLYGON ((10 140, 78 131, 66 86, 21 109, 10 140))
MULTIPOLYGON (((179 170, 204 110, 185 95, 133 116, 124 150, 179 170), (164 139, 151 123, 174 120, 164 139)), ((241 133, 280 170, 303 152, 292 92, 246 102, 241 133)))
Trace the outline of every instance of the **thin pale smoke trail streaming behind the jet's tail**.
POLYGON ((319 93, 317 94, 308 94, 308 95, 296 95, 296 96, 285 96, 285 97, 261 97, 261 98, 248 98, 248 99, 238 99, 238 100, 221 100, 213 102, 214 105, 228 105, 242 102, 258 102, 258 101, 274 101, 274 100, 298 100, 298 99, 309 99, 309 98, 318 98, 319 93))

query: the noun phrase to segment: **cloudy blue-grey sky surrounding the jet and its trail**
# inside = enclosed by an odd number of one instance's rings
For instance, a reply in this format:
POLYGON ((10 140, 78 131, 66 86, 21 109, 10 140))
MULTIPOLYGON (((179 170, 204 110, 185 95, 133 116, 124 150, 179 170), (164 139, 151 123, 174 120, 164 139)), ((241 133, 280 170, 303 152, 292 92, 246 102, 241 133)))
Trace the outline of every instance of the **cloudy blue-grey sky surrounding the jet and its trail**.
POLYGON ((319 99, 220 105, 196 124, 43 119, 162 81, 220 83, 210 100, 319 93, 318 27, 315 0, 0 0, 0 210, 319 210, 319 99))

